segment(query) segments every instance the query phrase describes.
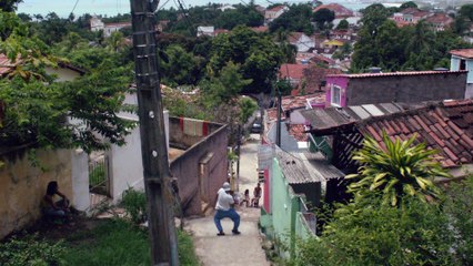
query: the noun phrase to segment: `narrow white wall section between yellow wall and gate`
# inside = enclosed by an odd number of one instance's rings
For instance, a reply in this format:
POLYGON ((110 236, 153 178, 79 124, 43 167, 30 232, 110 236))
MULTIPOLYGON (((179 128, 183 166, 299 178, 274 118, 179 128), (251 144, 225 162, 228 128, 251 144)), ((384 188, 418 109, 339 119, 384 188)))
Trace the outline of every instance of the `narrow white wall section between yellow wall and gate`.
POLYGON ((71 151, 72 202, 77 209, 87 211, 90 206, 89 156, 81 149, 71 151))

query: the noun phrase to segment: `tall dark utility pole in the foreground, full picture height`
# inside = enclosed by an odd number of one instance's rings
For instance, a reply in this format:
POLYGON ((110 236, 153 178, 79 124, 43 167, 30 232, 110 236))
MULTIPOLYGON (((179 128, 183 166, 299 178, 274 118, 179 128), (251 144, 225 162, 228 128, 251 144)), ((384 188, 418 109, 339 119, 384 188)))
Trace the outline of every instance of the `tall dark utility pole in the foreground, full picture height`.
POLYGON ((178 243, 155 44, 154 10, 158 3, 159 0, 130 0, 134 71, 151 264, 177 266, 178 243))

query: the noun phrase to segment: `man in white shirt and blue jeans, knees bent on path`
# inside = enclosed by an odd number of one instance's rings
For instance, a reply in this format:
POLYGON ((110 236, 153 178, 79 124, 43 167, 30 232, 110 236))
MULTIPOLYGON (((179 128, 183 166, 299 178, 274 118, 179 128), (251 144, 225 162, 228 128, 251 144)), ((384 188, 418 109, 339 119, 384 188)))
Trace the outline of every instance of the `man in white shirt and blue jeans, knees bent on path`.
POLYGON ((222 218, 231 218, 233 221, 233 235, 240 235, 238 227, 240 226, 240 215, 233 208, 234 200, 231 195, 230 184, 228 182, 223 183, 223 186, 217 192, 218 198, 215 204, 215 216, 213 216, 213 222, 215 223, 217 229, 219 233, 218 236, 223 236, 222 224, 220 221, 222 218))

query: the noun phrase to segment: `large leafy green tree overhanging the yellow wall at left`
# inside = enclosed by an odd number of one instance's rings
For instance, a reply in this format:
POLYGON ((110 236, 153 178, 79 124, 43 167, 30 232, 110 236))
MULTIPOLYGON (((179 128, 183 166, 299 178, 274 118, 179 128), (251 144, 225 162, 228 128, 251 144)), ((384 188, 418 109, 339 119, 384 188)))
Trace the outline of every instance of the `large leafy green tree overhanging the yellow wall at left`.
MULTIPOLYGON (((0 12, 3 14, 3 12, 0 12)), ((11 34, 0 42, 0 52, 17 66, 0 81, 0 99, 4 117, 0 134, 1 146, 31 145, 59 149, 81 146, 87 152, 107 147, 107 142, 123 144, 131 123, 117 116, 131 81, 130 69, 102 59, 101 68, 74 82, 57 83, 44 66, 56 66, 49 47, 28 35, 24 24, 14 25, 11 34), (68 124, 67 115, 82 121, 68 124), (103 136, 104 139, 99 139, 103 136)), ((10 17, 8 17, 10 18, 10 17)), ((11 19, 11 18, 10 18, 11 19)), ((18 18, 12 18, 18 22, 18 18)))

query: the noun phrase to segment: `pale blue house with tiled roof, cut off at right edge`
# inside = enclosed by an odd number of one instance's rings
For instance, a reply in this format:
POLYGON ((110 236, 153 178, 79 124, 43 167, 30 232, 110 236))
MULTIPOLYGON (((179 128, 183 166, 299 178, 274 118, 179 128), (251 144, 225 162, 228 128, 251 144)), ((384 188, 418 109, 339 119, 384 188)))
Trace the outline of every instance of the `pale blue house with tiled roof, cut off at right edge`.
POLYGON ((473 49, 459 49, 450 51, 452 54, 450 70, 467 71, 465 99, 473 98, 473 49))

